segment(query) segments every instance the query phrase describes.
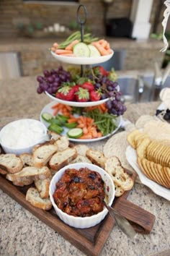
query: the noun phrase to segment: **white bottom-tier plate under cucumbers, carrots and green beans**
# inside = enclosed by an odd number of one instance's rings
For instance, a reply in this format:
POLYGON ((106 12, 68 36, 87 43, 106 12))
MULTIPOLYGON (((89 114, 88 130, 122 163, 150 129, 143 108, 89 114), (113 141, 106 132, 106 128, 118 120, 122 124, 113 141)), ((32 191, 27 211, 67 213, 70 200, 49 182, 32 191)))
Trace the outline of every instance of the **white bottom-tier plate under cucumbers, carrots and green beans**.
MULTIPOLYGON (((51 108, 53 105, 55 105, 56 102, 52 101, 51 103, 49 103, 48 105, 46 105, 44 108, 42 108, 42 111, 40 113, 40 121, 42 122, 42 124, 45 124, 45 126, 48 128, 49 123, 47 121, 45 121, 44 119, 42 119, 42 113, 47 112, 49 114, 53 115, 53 109, 51 108)), ((78 116, 78 115, 75 115, 78 116)), ((95 141, 99 141, 99 140, 104 140, 105 138, 109 137, 110 135, 113 135, 115 132, 117 132, 117 130, 120 128, 121 124, 122 124, 122 116, 118 116, 116 119, 116 124, 117 124, 117 128, 112 132, 112 134, 103 136, 103 137, 99 137, 96 139, 89 139, 89 140, 81 140, 81 139, 71 139, 69 138, 70 141, 73 142, 95 142, 95 141)), ((64 130, 62 132, 61 135, 66 135, 66 133, 68 132, 68 128, 67 127, 63 127, 64 130)))

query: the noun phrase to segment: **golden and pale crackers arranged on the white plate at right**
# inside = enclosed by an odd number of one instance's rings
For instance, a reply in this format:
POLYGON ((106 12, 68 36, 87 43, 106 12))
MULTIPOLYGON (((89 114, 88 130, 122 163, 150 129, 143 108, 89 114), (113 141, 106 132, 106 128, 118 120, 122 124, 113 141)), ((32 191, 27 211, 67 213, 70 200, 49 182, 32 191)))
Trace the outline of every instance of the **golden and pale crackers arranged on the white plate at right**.
POLYGON ((134 129, 128 133, 127 140, 136 150, 138 165, 148 179, 170 189, 170 140, 160 140, 160 137, 165 138, 166 135, 167 139, 170 135, 170 126, 167 125, 150 121, 143 131, 134 129))

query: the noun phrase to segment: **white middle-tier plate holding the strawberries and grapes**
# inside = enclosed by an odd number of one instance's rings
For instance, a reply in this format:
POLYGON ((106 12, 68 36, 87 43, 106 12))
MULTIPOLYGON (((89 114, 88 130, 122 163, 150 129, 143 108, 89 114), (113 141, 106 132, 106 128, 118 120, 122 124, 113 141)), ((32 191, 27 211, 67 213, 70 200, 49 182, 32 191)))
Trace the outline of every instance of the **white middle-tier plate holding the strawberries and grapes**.
POLYGON ((45 92, 48 97, 50 97, 53 101, 56 101, 58 103, 62 103, 64 105, 68 106, 78 106, 78 107, 88 107, 88 106, 97 106, 101 105, 102 103, 109 100, 109 98, 104 98, 104 100, 101 101, 89 101, 89 102, 76 102, 76 101, 63 101, 60 98, 55 98, 53 95, 50 95, 50 93, 45 92))

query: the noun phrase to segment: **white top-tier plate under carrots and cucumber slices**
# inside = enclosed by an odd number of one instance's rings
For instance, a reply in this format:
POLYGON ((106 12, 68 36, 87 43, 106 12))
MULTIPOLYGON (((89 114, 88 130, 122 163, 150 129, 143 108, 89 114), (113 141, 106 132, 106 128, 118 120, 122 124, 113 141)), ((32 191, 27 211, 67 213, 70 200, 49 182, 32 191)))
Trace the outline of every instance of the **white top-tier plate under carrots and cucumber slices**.
POLYGON ((99 57, 69 57, 69 56, 61 56, 58 54, 55 54, 53 51, 51 51, 51 54, 55 59, 58 61, 68 63, 68 64, 77 64, 77 65, 91 65, 91 64, 99 64, 104 61, 108 61, 112 58, 114 51, 112 51, 112 54, 105 55, 105 56, 99 56, 99 57))

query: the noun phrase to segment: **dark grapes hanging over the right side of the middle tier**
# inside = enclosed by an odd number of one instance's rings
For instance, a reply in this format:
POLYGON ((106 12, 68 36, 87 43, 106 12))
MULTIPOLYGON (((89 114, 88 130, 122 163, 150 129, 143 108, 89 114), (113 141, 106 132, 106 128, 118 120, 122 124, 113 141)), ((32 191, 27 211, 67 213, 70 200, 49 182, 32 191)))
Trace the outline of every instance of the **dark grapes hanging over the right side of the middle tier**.
POLYGON ((126 106, 121 101, 122 93, 119 91, 117 82, 109 80, 106 76, 95 79, 94 87, 96 90, 102 90, 102 100, 109 98, 106 102, 109 114, 120 116, 126 111, 126 106))

